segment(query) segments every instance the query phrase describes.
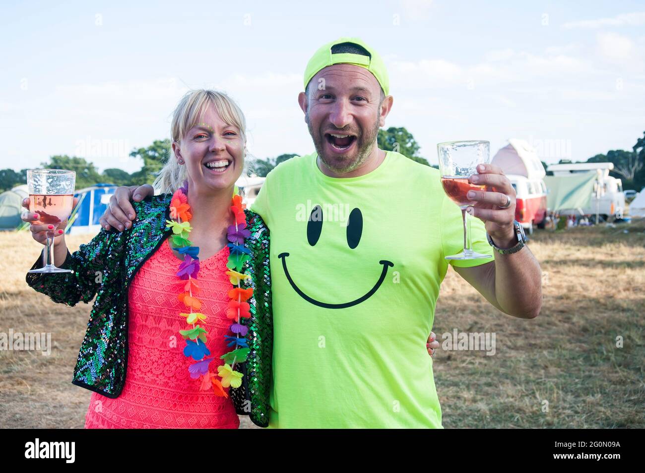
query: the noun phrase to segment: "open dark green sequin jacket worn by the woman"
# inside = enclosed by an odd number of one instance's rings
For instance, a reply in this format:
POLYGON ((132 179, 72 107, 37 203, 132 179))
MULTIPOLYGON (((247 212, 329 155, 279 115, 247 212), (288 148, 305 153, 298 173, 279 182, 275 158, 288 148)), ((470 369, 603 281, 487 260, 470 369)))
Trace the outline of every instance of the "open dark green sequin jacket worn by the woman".
MULTIPOLYGON (((166 229, 170 220, 170 194, 157 195, 134 202, 137 217, 132 228, 122 232, 101 229, 99 234, 78 251, 67 254, 60 266, 72 273, 28 273, 27 284, 54 302, 73 306, 94 299, 90 320, 72 383, 117 398, 123 389, 128 364, 128 288, 148 257, 172 233, 166 229)), ((269 231, 262 218, 245 210, 251 237, 245 244, 251 258, 244 273, 251 277, 242 282, 252 287, 249 327, 246 340, 250 348, 246 362, 237 365, 243 385, 230 389, 238 414, 248 414, 256 425, 268 425, 269 389, 273 325, 271 310, 271 276, 269 272, 269 231)), ((43 266, 43 258, 32 269, 43 266)))

